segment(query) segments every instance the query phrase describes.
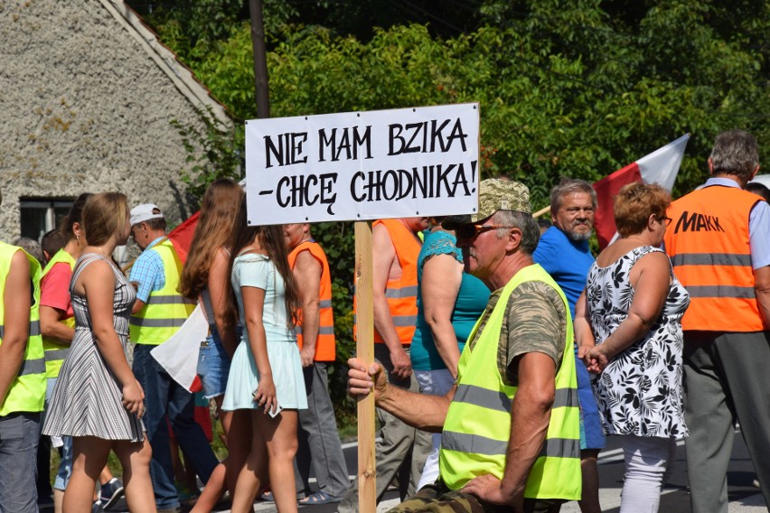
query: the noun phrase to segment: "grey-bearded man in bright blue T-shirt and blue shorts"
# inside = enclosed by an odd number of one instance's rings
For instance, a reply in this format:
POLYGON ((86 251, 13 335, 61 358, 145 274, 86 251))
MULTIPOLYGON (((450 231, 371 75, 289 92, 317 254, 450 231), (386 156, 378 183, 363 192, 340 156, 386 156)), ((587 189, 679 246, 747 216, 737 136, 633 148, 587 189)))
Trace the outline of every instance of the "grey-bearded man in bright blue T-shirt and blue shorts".
MULTIPOLYGON (((594 263, 588 239, 593 234, 595 211, 596 191, 591 184, 563 178, 550 192, 553 226, 542 234, 532 255, 534 261, 564 291, 573 320, 575 303, 586 287, 588 269, 594 263)), ((606 443, 588 371, 583 362, 577 359, 577 348, 575 358, 577 402, 580 406, 580 466, 583 474, 583 499, 579 503, 583 513, 594 513, 601 511, 596 458, 606 443)))

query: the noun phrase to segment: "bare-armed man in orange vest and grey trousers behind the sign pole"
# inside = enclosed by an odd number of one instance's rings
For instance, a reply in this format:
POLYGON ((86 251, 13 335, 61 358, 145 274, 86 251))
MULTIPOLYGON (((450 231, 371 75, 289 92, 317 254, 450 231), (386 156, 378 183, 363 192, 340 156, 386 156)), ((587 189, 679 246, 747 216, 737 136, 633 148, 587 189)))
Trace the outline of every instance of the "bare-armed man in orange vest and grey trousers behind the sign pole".
MULTIPOLYGON (((388 373, 390 384, 418 393, 412 375, 409 344, 417 325, 417 260, 428 218, 380 219, 371 228, 374 303, 374 357, 388 373)), ((430 452, 430 435, 401 422, 386 410, 377 410, 381 441, 377 443, 377 501, 400 469, 401 499, 416 490, 430 452)), ((356 483, 357 484, 357 483, 356 483)), ((340 513, 358 509, 353 485, 340 513)))

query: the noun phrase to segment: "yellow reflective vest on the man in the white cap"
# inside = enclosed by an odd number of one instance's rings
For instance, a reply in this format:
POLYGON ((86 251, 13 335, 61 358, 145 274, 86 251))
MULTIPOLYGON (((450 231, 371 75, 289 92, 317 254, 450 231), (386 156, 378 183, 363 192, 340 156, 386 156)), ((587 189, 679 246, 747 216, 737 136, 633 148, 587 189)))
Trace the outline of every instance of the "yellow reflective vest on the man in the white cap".
POLYGON ((171 241, 165 239, 146 251, 155 251, 163 261, 165 284, 150 294, 147 303, 128 322, 130 338, 137 344, 158 345, 168 340, 190 316, 195 302, 177 292, 182 262, 171 241))

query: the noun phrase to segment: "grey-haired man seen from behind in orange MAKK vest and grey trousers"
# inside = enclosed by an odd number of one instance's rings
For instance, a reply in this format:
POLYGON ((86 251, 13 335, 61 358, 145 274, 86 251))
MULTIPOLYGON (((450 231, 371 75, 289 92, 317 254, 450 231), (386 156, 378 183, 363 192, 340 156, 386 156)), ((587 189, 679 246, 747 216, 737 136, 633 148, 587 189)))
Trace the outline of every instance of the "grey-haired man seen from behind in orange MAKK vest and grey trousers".
POLYGON ((690 506, 727 513, 736 423, 770 504, 770 207, 742 191, 759 171, 754 135, 717 135, 709 171, 671 203, 663 241, 690 294, 681 319, 690 506))

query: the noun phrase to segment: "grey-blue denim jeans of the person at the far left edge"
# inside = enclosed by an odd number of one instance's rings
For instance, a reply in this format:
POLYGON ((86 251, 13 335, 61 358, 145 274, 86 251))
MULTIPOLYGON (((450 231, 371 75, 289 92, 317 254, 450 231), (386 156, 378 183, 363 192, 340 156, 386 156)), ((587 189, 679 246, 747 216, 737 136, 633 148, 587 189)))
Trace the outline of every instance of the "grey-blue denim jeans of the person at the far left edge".
POLYGON ((34 486, 40 414, 0 417, 0 512, 37 513, 34 486))

